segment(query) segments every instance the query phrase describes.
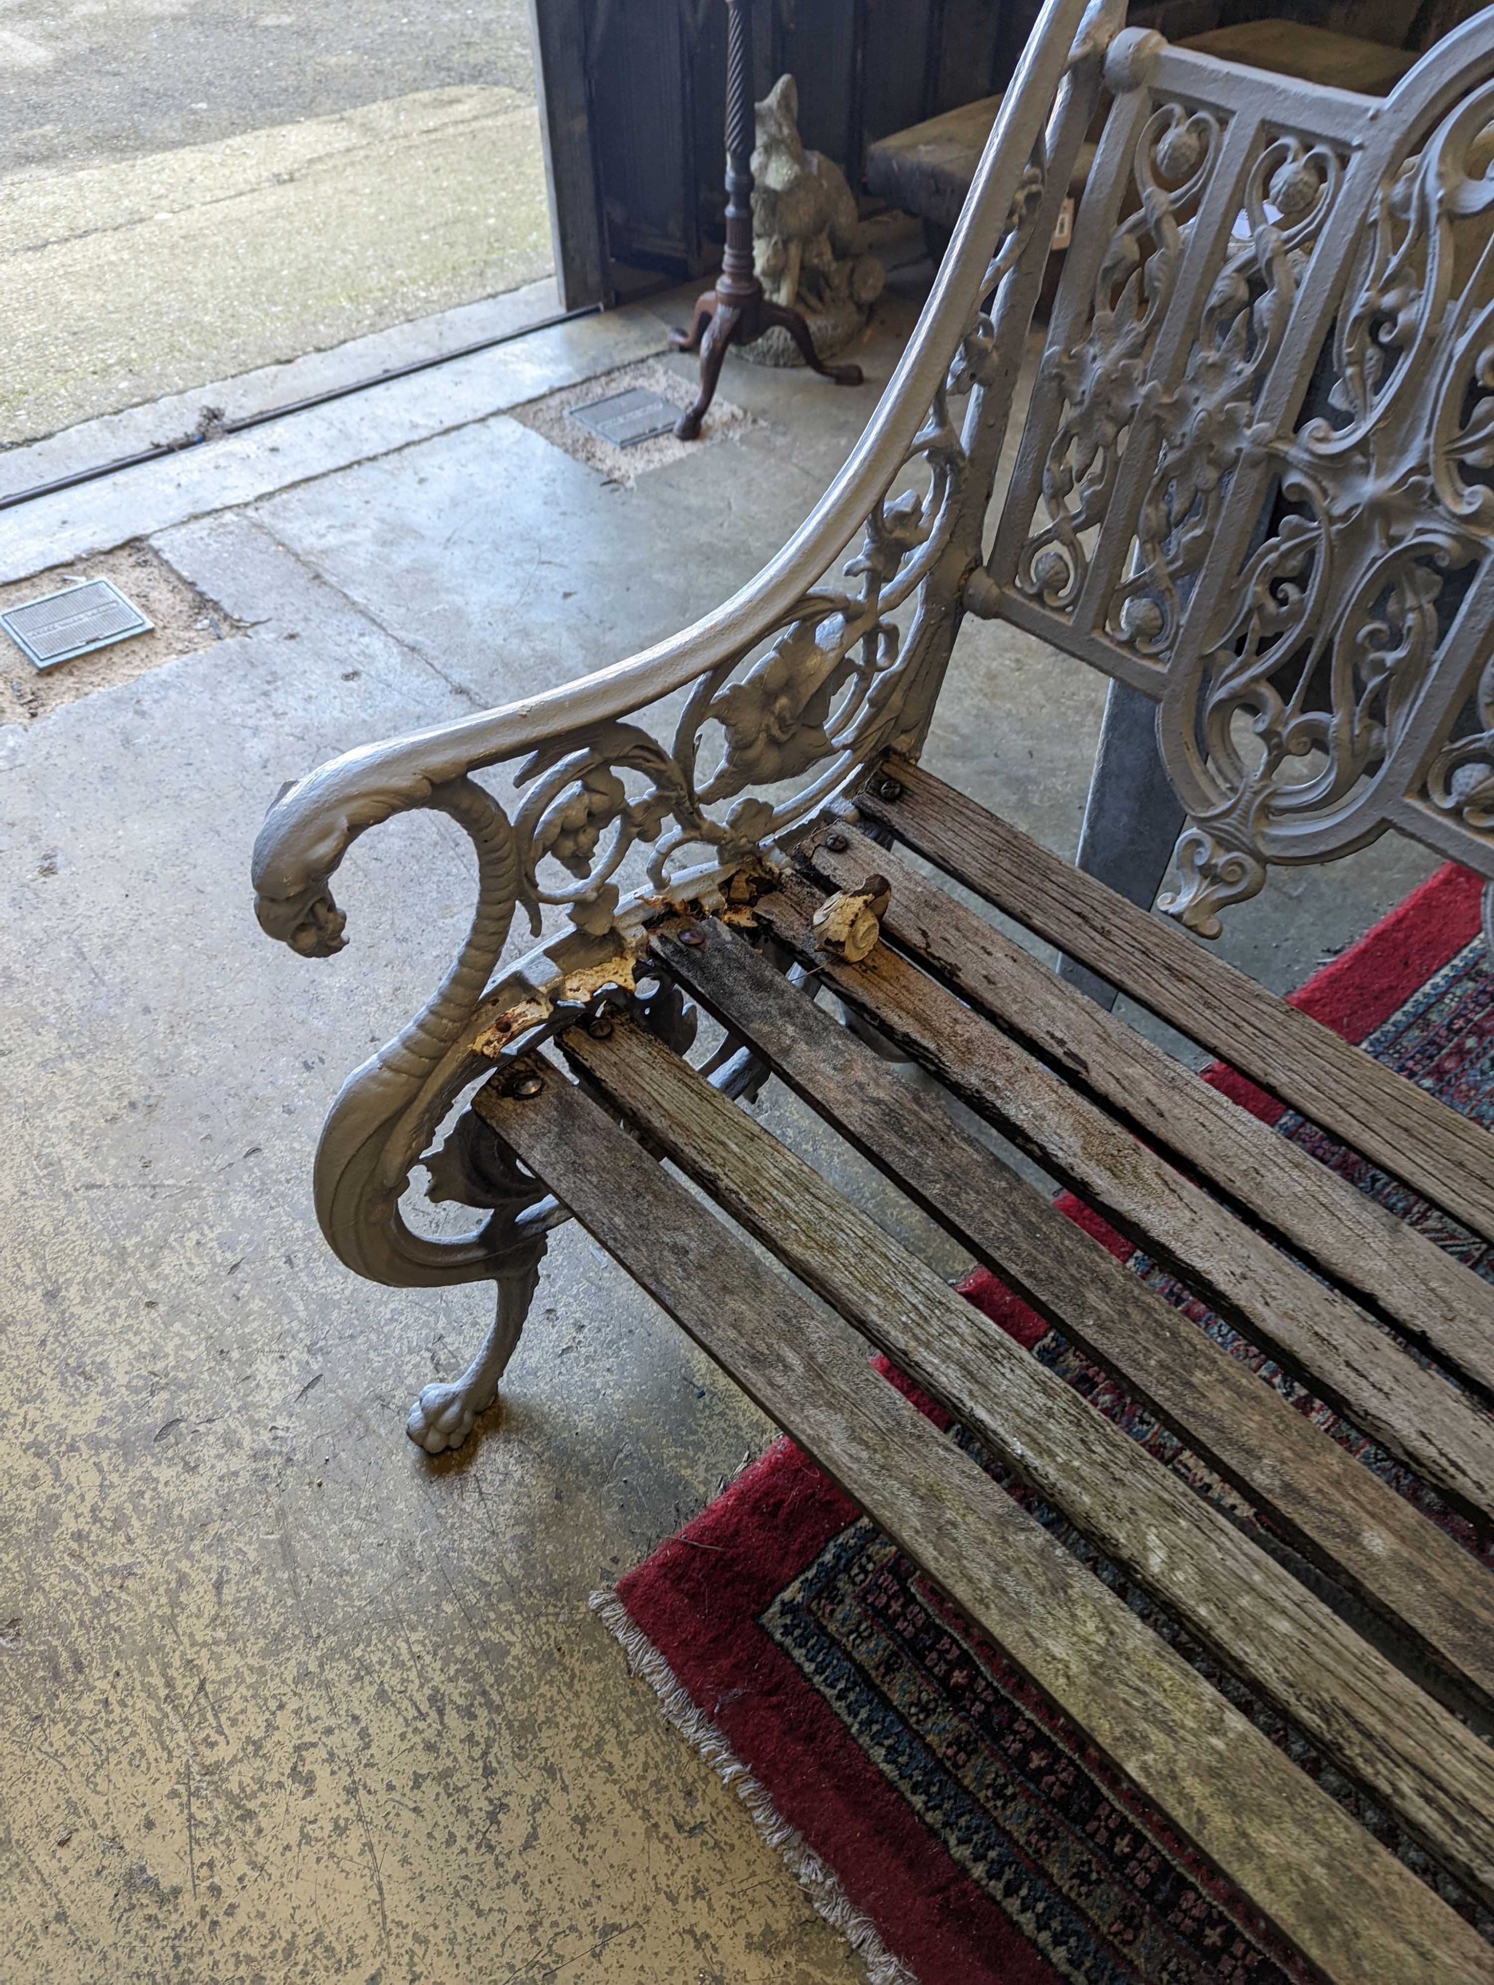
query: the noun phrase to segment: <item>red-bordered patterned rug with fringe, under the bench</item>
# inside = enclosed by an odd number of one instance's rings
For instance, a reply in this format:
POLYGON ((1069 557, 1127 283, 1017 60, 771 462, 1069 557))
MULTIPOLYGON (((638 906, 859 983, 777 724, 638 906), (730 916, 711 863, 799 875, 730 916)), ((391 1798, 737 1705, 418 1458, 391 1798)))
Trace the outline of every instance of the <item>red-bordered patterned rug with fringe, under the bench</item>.
MULTIPOLYGON (((1494 975, 1478 877, 1442 867, 1298 994, 1387 1066, 1494 1120, 1494 975)), ((1476 1272, 1494 1249, 1284 1112, 1230 1070, 1204 1080, 1413 1221, 1476 1272)), ((1280 1374, 1204 1304, 1073 1199, 1063 1209, 1234 1356, 1258 1370, 1466 1548, 1462 1521, 1280 1374)), ((962 1284, 986 1316, 1181 1471, 1240 1509, 1208 1469, 986 1270, 962 1284)), ((938 1415, 883 1364, 889 1382, 938 1415)), ((1008 1493, 1486 1935, 1482 1918, 1304 1739, 1188 1644, 1121 1572, 1000 1463, 1008 1493)), ((1248 1515, 1248 1513, 1246 1513, 1248 1515)), ((1486 1554, 1494 1570, 1494 1556, 1486 1554)), ((873 1985, 1311 1985, 1315 1973, 1206 1868, 855 1505, 778 1441, 615 1592, 605 1624, 665 1713, 734 1785, 873 1985)))

